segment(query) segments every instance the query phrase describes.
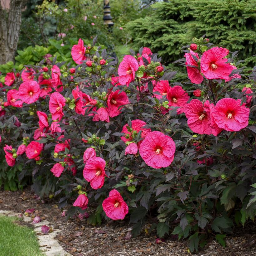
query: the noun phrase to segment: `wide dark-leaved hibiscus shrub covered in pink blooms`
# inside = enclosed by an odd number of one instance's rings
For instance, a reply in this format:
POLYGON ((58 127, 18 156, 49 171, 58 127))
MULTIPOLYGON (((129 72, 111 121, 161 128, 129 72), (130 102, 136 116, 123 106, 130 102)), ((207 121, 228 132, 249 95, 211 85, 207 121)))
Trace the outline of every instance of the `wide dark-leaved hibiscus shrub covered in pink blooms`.
POLYGON ((255 216, 256 71, 244 75, 237 52, 207 39, 184 52, 182 83, 169 82, 175 72, 149 48, 118 65, 82 39, 75 68, 53 61, 8 73, 5 188, 30 184, 60 208, 73 204, 68 216, 96 205, 93 225, 127 215, 133 236, 151 220, 149 234, 188 238, 190 251, 212 237, 225 245, 225 233, 255 216))

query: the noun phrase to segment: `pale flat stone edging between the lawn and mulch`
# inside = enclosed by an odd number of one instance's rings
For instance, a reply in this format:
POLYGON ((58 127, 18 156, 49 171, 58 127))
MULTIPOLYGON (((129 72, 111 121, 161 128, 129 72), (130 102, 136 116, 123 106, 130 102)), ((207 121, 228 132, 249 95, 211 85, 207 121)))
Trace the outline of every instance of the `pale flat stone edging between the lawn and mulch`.
MULTIPOLYGON (((17 212, 12 212, 12 211, 5 211, 5 210, 0 210, 0 215, 5 215, 9 217, 18 217, 17 212)), ((32 223, 32 220, 30 217, 27 217, 25 215, 23 216, 24 222, 27 222, 31 225, 34 226, 34 230, 36 233, 40 232, 41 233, 41 226, 43 225, 49 225, 49 221, 43 220, 39 223, 32 223)), ((45 234, 45 235, 36 235, 38 238, 38 243, 40 246, 40 249, 43 251, 43 253, 46 256, 72 256, 71 254, 67 253, 58 243, 54 237, 57 235, 57 233, 61 232, 60 229, 54 229, 51 233, 45 234), (46 246, 43 246, 46 245, 46 246), (46 248, 46 247, 51 247, 51 248, 46 248)))

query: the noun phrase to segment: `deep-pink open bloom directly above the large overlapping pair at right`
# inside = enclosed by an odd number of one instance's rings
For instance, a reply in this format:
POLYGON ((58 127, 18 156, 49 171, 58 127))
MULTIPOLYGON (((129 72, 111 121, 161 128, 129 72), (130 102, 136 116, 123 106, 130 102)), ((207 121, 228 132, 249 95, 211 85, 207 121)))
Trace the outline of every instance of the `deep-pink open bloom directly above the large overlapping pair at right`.
POLYGON ((168 105, 173 107, 180 107, 177 109, 177 114, 184 112, 183 107, 186 105, 189 98, 190 97, 186 91, 184 91, 179 85, 173 86, 167 93, 167 99, 169 101, 168 105))

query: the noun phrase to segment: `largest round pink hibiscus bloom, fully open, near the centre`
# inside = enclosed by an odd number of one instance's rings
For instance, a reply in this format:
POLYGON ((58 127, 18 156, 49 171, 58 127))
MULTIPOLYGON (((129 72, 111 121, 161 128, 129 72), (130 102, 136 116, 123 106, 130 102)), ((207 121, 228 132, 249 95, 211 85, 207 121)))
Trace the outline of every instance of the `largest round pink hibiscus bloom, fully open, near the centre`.
POLYGON ((173 139, 161 132, 148 133, 140 144, 140 155, 152 168, 168 167, 174 159, 175 143, 173 139))

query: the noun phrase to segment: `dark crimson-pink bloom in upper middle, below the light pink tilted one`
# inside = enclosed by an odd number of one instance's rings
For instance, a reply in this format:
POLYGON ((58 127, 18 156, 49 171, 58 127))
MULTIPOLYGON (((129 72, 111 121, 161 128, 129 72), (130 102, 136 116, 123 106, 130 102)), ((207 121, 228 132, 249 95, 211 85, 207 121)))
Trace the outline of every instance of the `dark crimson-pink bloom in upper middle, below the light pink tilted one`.
POLYGON ((126 105, 129 103, 129 99, 125 92, 121 92, 121 90, 116 90, 114 92, 111 92, 108 95, 107 100, 107 111, 109 113, 110 117, 118 116, 121 113, 121 109, 123 108, 123 105, 126 105))

